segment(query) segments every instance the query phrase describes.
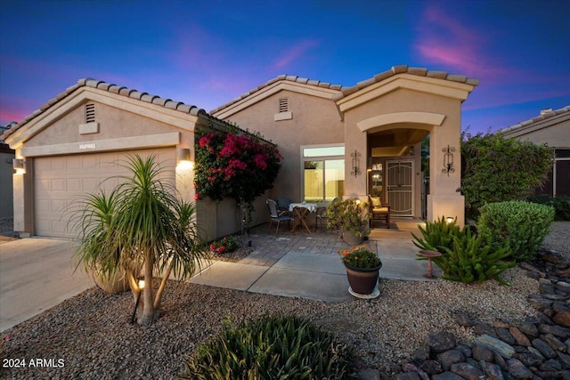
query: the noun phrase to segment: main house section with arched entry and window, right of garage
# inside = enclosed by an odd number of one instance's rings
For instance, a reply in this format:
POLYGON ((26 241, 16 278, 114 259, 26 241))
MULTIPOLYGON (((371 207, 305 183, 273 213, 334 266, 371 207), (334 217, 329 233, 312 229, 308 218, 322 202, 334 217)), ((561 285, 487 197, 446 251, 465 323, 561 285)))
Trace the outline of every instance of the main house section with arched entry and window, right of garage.
POLYGON ((420 143, 430 135, 428 220, 464 220, 461 103, 478 84, 395 66, 352 87, 281 76, 212 110, 276 141, 286 158, 273 198, 330 202, 377 194, 391 213, 421 217, 420 143))

